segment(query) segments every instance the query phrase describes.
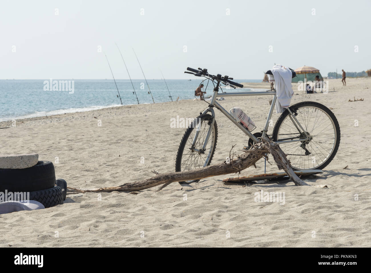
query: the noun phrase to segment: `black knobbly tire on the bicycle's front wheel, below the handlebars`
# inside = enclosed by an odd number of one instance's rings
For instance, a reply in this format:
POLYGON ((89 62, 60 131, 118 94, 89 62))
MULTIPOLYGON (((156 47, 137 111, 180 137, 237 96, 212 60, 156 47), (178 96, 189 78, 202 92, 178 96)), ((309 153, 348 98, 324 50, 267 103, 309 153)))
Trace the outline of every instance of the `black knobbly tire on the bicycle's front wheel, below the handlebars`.
MULTIPOLYGON (((208 126, 207 128, 210 127, 210 122, 212 122, 212 120, 213 120, 213 116, 211 116, 209 114, 202 114, 202 115, 198 116, 197 119, 198 118, 200 118, 201 125, 204 125, 205 124, 205 129, 206 129, 206 126, 208 126)), ((196 130, 195 126, 192 126, 192 124, 191 124, 187 128, 187 130, 185 131, 185 133, 183 135, 183 138, 182 138, 182 140, 180 142, 180 145, 179 145, 179 148, 178 148, 177 159, 175 161, 175 172, 184 171, 185 168, 186 168, 186 166, 182 168, 183 152, 184 152, 184 149, 185 149, 185 146, 186 145, 191 146, 191 145, 189 145, 188 138, 190 138, 190 136, 193 135, 192 133, 195 132, 195 130, 196 130)), ((202 128, 201 128, 201 130, 202 130, 202 128)), ((201 130, 200 130, 200 133, 198 134, 199 139, 203 136, 203 134, 201 134, 201 130)), ((211 163, 211 160, 213 159, 215 148, 216 148, 217 138, 218 138, 218 126, 216 124, 216 121, 214 121, 213 135, 211 135, 210 138, 209 138, 209 141, 211 141, 210 148, 209 149, 206 149, 208 151, 208 156, 207 156, 206 160, 204 160, 204 163, 203 163, 203 164, 205 164, 207 162, 207 165, 206 166, 209 166, 210 163, 211 163)), ((197 146, 197 144, 196 144, 196 146, 197 146)), ((193 152, 193 154, 196 155, 195 152, 193 152)), ((198 157, 198 155, 196 155, 196 156, 198 157)), ((196 156, 195 156, 195 158, 196 158, 196 156)), ((201 154, 200 154, 200 157, 199 158, 200 158, 200 164, 201 164, 203 162, 203 161, 201 161, 201 158, 202 158, 201 157, 201 154)), ((195 160, 195 164, 196 163, 197 162, 195 160)), ((195 166, 192 166, 192 169, 191 170, 195 170, 197 168, 200 168, 200 166, 196 166, 196 165, 195 166)), ((186 168, 186 169, 187 170, 190 170, 189 168, 186 168)), ((181 182, 179 182, 179 184, 190 184, 190 183, 194 183, 194 182, 198 182, 198 181, 199 180, 181 181, 181 182)))

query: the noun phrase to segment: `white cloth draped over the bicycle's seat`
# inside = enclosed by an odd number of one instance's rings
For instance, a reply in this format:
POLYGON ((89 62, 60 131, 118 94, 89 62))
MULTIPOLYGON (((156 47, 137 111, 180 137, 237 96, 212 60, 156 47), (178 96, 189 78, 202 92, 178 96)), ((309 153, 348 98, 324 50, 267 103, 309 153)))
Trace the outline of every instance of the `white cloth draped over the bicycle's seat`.
POLYGON ((283 65, 275 65, 270 71, 273 73, 276 84, 276 112, 282 113, 290 106, 292 95, 294 95, 291 84, 292 72, 283 65))

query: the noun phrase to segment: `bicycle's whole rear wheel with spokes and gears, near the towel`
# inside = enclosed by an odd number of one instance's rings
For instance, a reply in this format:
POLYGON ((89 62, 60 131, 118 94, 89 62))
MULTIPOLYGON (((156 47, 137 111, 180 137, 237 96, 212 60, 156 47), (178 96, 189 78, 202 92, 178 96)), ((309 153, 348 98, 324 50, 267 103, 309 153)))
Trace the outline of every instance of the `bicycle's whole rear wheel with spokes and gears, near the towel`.
POLYGON ((335 157, 340 144, 340 127, 334 113, 310 101, 296 103, 290 110, 304 131, 285 110, 273 129, 273 141, 287 141, 279 146, 294 170, 322 170, 335 157))

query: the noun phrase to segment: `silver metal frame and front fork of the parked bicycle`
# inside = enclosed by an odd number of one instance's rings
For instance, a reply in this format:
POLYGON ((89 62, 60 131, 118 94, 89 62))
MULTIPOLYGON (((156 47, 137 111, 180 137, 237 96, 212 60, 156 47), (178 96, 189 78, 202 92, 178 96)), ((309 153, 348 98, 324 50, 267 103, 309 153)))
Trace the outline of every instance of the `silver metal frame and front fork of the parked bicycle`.
MULTIPOLYGON (((246 135, 248 135, 251 139, 253 139, 253 141, 255 141, 256 143, 259 142, 259 140, 245 127, 243 126, 240 122, 237 122, 233 116, 231 114, 229 114, 229 112, 224 109, 217 101, 216 101, 216 98, 217 97, 234 97, 234 96, 264 96, 264 95, 273 95, 273 100, 272 100, 272 105, 270 105, 270 109, 269 109, 269 113, 268 113, 268 117, 267 117, 267 121, 265 123, 265 126, 264 126, 264 129, 263 129, 263 133, 262 133, 262 136, 265 137, 266 134, 267 134, 267 131, 268 131, 268 126, 269 126, 269 121, 272 117, 272 113, 273 113, 273 109, 275 108, 275 103, 276 103, 276 100, 277 100, 277 96, 276 96, 276 91, 246 91, 246 92, 227 92, 227 93, 219 93, 219 84, 220 84, 220 81, 217 82, 217 85, 216 87, 214 88, 214 92, 213 92, 213 95, 211 96, 211 101, 209 103, 209 107, 207 107, 203 112, 202 114, 206 114, 207 112, 210 112, 211 115, 213 116, 213 121, 212 121, 212 124, 209 128, 209 131, 207 132, 207 135, 206 135, 206 139, 205 139, 205 142, 204 142, 204 145, 203 145, 203 150, 206 149, 206 144, 207 142, 209 141, 209 138, 210 138, 210 134, 211 134, 211 131, 212 131, 212 128, 213 128, 213 125, 214 125, 214 121, 215 121, 215 112, 214 112, 214 107, 216 109, 218 109, 220 112, 222 112, 225 116, 227 116, 227 118, 230 119, 230 121, 232 121, 238 128, 241 129, 241 131, 243 131, 246 135)), ((298 129, 298 132, 299 133, 304 133, 306 135, 306 137, 308 138, 309 135, 307 132, 305 132, 305 130, 303 129, 303 127, 301 126, 301 124, 299 123, 299 121, 296 119, 296 116, 292 113, 292 111, 287 108, 290 115, 290 119, 292 121, 292 123, 295 125, 296 129, 298 129), (302 131, 301 131, 302 130, 302 131)), ((194 146, 196 144, 196 140, 198 138, 198 133, 200 131, 200 127, 201 124, 198 124, 197 125, 197 130, 196 130, 196 134, 194 136, 194 139, 193 139, 193 145, 194 146)), ((305 141, 306 139, 290 139, 290 140, 283 140, 283 141, 276 141, 276 143, 280 144, 280 143, 287 143, 287 142, 299 142, 299 141, 305 141)))

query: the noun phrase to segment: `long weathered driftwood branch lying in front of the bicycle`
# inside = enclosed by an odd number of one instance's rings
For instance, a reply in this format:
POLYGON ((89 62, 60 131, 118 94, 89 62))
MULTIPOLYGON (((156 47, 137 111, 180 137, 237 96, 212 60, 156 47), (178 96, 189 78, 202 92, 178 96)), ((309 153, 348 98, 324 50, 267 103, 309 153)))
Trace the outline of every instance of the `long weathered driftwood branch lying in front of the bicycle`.
POLYGON ((197 170, 157 174, 154 177, 147 178, 142 181, 128 182, 124 185, 116 187, 106 187, 92 190, 81 190, 69 187, 69 189, 81 193, 111 191, 133 192, 164 184, 164 186, 160 188, 161 190, 166 185, 173 182, 198 180, 216 175, 240 172, 248 167, 255 166, 256 162, 259 159, 266 157, 267 153, 270 153, 273 156, 273 159, 275 160, 279 170, 285 170, 286 174, 288 174, 288 176, 296 185, 308 185, 304 181, 302 181, 292 170, 285 153, 281 150, 279 145, 267 138, 263 138, 262 142, 254 145, 250 150, 244 151, 244 154, 239 155, 237 159, 230 159, 229 163, 224 161, 223 163, 211 165, 197 170))

